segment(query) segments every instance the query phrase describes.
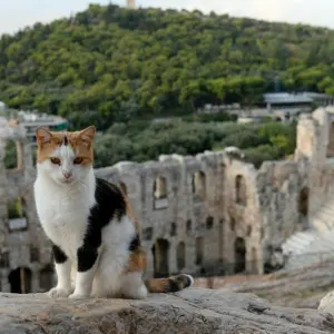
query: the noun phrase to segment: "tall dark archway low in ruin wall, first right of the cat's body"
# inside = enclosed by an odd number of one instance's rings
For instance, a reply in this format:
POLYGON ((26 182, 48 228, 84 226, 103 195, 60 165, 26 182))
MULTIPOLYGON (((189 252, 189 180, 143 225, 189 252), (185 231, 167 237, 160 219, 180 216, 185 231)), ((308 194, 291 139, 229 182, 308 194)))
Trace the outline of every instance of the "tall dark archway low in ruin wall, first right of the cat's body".
POLYGON ((169 243, 166 239, 157 239, 153 248, 154 256, 154 276, 168 277, 169 276, 169 243))

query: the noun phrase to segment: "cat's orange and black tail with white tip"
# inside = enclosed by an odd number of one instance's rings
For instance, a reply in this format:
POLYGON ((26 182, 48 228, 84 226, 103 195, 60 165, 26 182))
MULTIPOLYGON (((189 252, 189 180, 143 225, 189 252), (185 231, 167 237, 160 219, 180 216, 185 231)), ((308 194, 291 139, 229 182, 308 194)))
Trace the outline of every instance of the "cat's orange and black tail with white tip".
POLYGON ((180 274, 167 278, 146 279, 144 283, 149 293, 171 293, 191 286, 194 278, 190 275, 180 274))

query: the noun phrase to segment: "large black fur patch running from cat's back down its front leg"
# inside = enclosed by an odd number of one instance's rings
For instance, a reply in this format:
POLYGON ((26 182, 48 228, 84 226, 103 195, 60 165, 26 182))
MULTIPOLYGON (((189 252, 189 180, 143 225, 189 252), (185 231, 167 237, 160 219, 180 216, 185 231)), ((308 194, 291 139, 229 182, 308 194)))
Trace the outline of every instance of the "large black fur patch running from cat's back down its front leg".
POLYGON ((102 228, 112 218, 120 220, 126 215, 126 202, 119 188, 104 179, 96 178, 96 205, 90 209, 84 245, 78 249, 78 271, 89 271, 98 256, 102 242, 102 228))

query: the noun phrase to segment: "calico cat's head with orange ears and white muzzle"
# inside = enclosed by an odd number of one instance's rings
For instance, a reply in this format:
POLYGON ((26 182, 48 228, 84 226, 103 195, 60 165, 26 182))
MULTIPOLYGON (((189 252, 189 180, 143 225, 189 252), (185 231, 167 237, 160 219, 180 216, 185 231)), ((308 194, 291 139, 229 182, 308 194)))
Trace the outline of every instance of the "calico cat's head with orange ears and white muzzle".
POLYGON ((70 185, 85 178, 92 167, 92 140, 96 128, 55 132, 36 130, 38 171, 58 184, 70 185))

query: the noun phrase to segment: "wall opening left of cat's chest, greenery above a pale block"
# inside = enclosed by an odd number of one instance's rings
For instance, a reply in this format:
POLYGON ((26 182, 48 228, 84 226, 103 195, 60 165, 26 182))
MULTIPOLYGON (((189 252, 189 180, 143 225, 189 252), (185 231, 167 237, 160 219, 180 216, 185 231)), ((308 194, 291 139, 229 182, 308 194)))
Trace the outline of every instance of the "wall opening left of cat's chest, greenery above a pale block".
POLYGON ((18 197, 14 200, 9 202, 7 205, 7 213, 10 232, 27 229, 27 205, 22 197, 18 197))

